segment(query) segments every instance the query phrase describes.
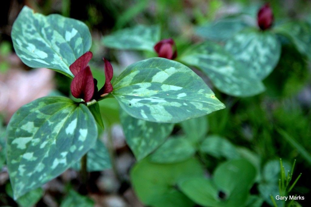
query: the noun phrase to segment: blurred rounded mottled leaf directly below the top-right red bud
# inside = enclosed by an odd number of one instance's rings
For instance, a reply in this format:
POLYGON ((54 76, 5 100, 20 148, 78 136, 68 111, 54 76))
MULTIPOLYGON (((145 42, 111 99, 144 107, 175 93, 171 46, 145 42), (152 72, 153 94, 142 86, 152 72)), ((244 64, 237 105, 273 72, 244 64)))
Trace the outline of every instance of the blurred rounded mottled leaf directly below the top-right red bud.
POLYGON ((244 30, 229 39, 225 49, 260 80, 273 71, 281 55, 281 44, 270 31, 244 30))

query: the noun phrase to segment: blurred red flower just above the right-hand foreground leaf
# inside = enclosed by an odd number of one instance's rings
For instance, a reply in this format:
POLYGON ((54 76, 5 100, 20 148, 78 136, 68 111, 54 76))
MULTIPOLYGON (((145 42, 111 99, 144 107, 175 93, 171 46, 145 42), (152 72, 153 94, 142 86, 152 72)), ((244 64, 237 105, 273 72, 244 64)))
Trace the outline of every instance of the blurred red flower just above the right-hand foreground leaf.
POLYGON ((154 49, 160 58, 173 60, 177 57, 176 45, 173 39, 162 39, 154 46, 154 49))

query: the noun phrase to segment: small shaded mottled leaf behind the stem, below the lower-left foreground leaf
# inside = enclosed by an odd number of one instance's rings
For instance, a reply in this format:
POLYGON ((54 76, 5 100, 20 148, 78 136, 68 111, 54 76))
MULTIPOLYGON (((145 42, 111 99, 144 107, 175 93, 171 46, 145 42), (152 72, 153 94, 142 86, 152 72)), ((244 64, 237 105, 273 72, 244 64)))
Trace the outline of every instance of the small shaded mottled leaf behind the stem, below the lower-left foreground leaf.
MULTIPOLYGON (((111 168, 111 161, 108 149, 104 143, 97 139, 95 145, 87 152, 87 171, 102 171, 111 168)), ((75 170, 81 169, 81 159, 72 165, 75 170)))

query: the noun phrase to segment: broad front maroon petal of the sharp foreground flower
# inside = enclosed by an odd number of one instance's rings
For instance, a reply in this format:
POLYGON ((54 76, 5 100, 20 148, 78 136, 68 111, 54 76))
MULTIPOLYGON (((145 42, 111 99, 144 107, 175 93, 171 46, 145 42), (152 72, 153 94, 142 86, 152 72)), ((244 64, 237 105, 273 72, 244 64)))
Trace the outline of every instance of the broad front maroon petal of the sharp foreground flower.
POLYGON ((77 99, 89 102, 94 94, 94 80, 89 66, 78 72, 70 85, 71 93, 77 99))

